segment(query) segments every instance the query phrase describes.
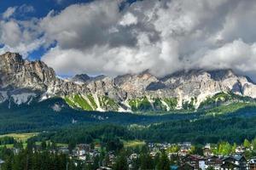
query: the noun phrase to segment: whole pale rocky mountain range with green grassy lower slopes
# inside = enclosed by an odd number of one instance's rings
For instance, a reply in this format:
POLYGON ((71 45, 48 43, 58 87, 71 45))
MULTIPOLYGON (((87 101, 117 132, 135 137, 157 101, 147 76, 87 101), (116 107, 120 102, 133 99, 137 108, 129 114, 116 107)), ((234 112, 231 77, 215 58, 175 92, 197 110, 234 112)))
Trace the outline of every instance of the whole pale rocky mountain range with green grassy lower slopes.
POLYGON ((78 75, 62 80, 42 61, 13 53, 0 55, 0 103, 9 100, 21 105, 58 96, 72 107, 90 111, 170 111, 196 109, 209 98, 226 102, 227 96, 234 98, 231 94, 254 99, 256 85, 231 70, 178 71, 161 78, 143 71, 115 78, 78 75))

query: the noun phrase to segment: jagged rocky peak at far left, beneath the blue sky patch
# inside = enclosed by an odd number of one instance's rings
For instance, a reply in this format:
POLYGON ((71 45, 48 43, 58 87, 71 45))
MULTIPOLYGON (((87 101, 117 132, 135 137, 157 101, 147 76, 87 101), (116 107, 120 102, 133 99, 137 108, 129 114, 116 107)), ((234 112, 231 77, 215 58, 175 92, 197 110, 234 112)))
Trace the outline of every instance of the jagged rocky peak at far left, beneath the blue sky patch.
POLYGON ((0 55, 0 59, 3 87, 45 90, 49 82, 55 81, 55 71, 42 61, 28 61, 15 53, 0 55))

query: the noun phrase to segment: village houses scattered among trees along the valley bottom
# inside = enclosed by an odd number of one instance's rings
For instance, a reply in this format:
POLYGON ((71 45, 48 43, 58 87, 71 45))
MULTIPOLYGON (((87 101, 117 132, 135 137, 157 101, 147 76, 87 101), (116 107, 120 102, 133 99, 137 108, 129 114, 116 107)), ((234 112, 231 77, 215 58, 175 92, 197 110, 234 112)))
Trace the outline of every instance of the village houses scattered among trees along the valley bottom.
MULTIPOLYGON (((183 142, 178 144, 146 144, 148 148, 149 156, 154 159, 161 151, 166 152, 170 164, 170 170, 186 169, 186 170, 255 170, 256 169, 256 157, 245 156, 246 152, 253 152, 253 146, 244 147, 243 145, 237 145, 235 153, 230 155, 214 154, 212 150, 212 144, 205 144, 202 148, 202 154, 193 154, 195 146, 190 142, 183 142)), ((41 150, 38 147, 37 150, 41 150)), ((13 148, 14 154, 18 154, 20 149, 13 148)), ((49 150, 58 154, 65 154, 70 159, 76 162, 84 162, 92 164, 102 154, 101 146, 92 147, 91 144, 77 144, 73 150, 69 150, 67 146, 59 146, 55 150, 49 150)), ((126 157, 126 161, 129 169, 135 169, 134 162, 139 159, 140 153, 133 151, 126 157)), ((114 151, 108 151, 104 159, 102 160, 101 166, 97 167, 97 170, 111 170, 117 155, 114 151)), ((4 161, 0 159, 0 169, 4 161)))

